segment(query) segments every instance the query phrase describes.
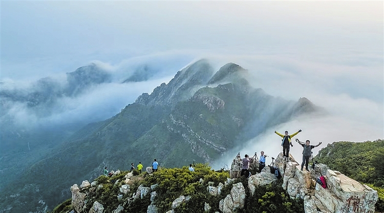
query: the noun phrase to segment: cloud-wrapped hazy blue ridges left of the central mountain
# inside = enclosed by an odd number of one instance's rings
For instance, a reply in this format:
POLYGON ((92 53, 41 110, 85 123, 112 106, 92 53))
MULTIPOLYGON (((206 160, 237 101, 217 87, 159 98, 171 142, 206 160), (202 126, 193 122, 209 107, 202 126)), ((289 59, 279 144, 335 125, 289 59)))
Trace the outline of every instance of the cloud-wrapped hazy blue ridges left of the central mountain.
POLYGON ((183 54, 149 55, 117 65, 93 61, 37 81, 5 78, 1 122, 26 127, 107 119, 142 93, 168 83, 189 61, 183 54))

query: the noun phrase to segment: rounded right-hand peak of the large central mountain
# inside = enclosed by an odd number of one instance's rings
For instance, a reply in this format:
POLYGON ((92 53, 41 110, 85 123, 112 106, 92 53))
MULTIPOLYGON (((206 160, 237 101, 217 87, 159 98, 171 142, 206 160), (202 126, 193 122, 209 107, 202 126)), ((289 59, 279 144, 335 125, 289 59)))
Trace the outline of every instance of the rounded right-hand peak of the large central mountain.
POLYGON ((227 63, 223 67, 220 68, 219 71, 208 81, 208 84, 217 83, 219 81, 224 80, 233 80, 233 78, 241 78, 239 76, 241 73, 247 71, 236 63, 227 63))

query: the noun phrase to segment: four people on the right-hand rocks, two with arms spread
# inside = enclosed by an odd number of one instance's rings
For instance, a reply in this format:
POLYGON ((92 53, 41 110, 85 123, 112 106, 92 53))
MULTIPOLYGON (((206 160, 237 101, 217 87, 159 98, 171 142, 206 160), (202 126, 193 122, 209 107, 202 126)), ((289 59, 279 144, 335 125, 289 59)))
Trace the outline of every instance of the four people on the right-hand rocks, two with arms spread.
MULTIPOLYGON (((281 145, 283 146, 283 160, 288 162, 290 146, 293 146, 293 144, 291 142, 291 138, 300 132, 302 132, 302 130, 298 130, 297 132, 293 133, 292 135, 288 135, 288 131, 285 131, 284 135, 283 135, 281 133, 274 131, 274 133, 276 133, 277 135, 282 137, 281 145)), ((303 162, 301 164, 301 171, 303 171, 304 165, 305 165, 305 169, 307 171, 309 171, 308 161, 312 155, 312 148, 319 146, 320 144, 322 144, 322 142, 319 142, 317 145, 310 145, 309 140, 306 140, 304 143, 304 142, 296 139, 296 142, 303 146, 303 162)), ((261 151, 260 154, 261 155, 260 155, 260 159, 259 159, 259 172, 261 172, 262 169, 265 167, 265 158, 268 157, 267 155, 264 154, 263 151, 261 151)), ((240 155, 240 153, 239 153, 239 155, 240 155)), ((240 174, 241 176, 243 176, 245 174, 248 174, 248 177, 250 176, 249 163, 252 159, 254 159, 255 156, 257 156, 257 153, 255 153, 255 155, 252 158, 249 158, 248 155, 244 156, 244 158, 242 159, 243 166, 241 169, 241 174, 240 174)))

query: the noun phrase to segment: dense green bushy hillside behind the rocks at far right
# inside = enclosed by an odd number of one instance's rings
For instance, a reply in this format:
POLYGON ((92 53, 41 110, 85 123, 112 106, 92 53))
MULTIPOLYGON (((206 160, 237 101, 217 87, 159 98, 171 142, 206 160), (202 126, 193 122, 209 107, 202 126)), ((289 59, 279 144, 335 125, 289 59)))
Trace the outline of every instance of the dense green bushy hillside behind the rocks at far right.
POLYGON ((378 191, 376 211, 384 211, 384 140, 334 142, 328 144, 314 160, 378 191))

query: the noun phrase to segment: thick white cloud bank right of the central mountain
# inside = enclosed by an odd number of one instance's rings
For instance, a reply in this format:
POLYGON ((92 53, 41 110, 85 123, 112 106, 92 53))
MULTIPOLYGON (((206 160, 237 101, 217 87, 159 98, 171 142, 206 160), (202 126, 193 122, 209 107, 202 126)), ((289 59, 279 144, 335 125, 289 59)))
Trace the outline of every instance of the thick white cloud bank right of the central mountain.
MULTIPOLYGON (((365 65, 331 57, 303 61, 285 55, 232 57, 234 62, 249 70, 248 80, 253 87, 290 100, 307 97, 328 114, 298 117, 265 130, 258 137, 240 142, 240 147, 226 153, 214 167, 230 166, 239 151, 244 156, 254 152, 260 155, 264 150, 276 157, 282 147, 281 138, 274 134, 274 130, 280 133, 288 130, 292 134, 302 129, 303 132, 297 135, 301 141, 308 139, 311 144, 322 141, 323 144, 313 150, 314 154, 335 141, 362 142, 384 138, 384 73, 382 61, 377 61, 376 56, 364 59, 372 61, 365 65)), ((293 144, 290 153, 301 163, 303 148, 293 144)))

